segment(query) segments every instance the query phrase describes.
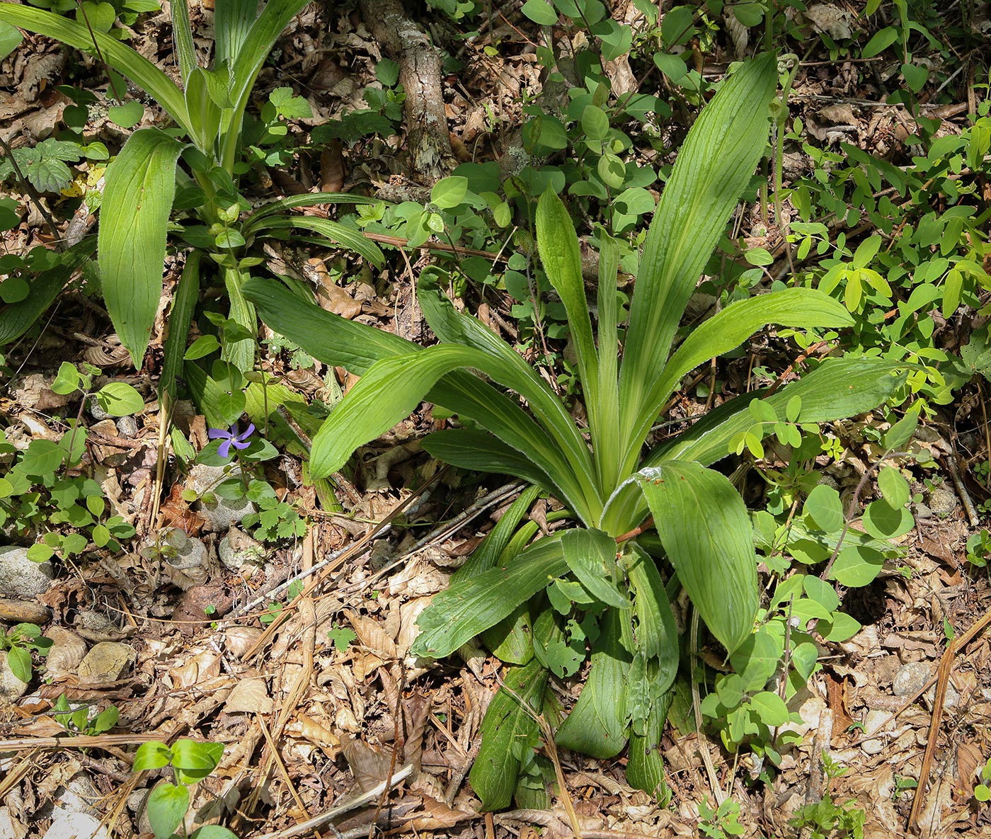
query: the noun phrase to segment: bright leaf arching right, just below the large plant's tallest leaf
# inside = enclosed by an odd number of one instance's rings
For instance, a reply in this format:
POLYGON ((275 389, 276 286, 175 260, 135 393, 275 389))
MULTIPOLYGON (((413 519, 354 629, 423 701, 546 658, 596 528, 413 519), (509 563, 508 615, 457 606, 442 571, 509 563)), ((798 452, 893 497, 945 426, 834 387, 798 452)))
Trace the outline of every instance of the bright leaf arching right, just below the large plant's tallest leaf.
POLYGON ((815 289, 785 289, 727 305, 693 329, 671 356, 664 375, 657 380, 644 403, 633 431, 634 445, 626 453, 627 462, 639 455, 651 425, 678 382, 703 362, 735 349, 754 332, 771 324, 818 329, 852 323, 853 318, 842 303, 815 289))

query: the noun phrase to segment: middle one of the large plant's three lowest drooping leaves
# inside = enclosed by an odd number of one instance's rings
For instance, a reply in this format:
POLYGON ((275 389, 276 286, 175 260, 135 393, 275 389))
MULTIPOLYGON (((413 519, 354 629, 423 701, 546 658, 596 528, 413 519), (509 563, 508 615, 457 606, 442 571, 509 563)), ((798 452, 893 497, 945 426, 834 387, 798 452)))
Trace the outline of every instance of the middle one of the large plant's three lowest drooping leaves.
POLYGON ((628 624, 629 612, 606 609, 600 636, 592 646, 588 681, 558 729, 558 746, 605 759, 615 757, 626 745, 626 673, 632 658, 628 624))

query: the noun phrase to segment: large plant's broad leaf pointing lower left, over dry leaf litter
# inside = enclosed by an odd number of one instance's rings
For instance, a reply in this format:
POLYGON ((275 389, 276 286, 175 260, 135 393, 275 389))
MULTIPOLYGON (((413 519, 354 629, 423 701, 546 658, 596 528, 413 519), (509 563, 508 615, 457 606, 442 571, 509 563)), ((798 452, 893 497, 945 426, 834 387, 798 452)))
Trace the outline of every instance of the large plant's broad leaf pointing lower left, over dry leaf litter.
POLYGON ((550 536, 521 551, 505 568, 455 583, 434 597, 417 619, 422 632, 412 654, 431 659, 450 656, 566 573, 561 538, 550 536))

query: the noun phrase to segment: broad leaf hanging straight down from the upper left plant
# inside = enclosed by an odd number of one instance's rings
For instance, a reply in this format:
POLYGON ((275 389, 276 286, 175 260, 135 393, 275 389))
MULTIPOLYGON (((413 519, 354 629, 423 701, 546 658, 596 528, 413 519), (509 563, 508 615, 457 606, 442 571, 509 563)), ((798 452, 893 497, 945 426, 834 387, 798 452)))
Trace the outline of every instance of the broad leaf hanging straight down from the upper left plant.
POLYGON ((107 167, 98 235, 103 299, 139 368, 162 298, 165 228, 181 151, 165 132, 143 128, 107 167))

